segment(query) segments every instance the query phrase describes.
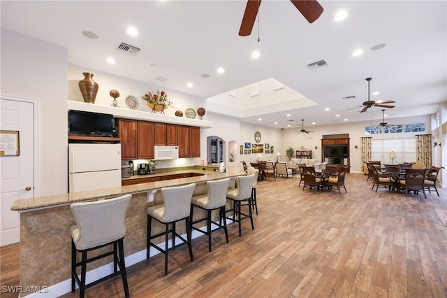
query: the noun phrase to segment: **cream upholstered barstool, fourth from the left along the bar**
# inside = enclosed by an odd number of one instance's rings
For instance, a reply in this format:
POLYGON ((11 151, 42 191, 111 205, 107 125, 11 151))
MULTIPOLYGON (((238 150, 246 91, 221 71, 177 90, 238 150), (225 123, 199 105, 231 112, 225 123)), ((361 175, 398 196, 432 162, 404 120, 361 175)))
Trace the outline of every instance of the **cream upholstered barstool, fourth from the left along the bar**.
MULTIPOLYGON (((249 218, 251 221, 251 229, 254 229, 253 217, 251 216, 251 191, 253 187, 254 175, 249 176, 237 176, 236 185, 237 188, 232 188, 226 193, 226 198, 233 201, 233 221, 239 223, 239 236, 241 236, 241 221, 244 218, 249 218), (243 201, 247 201, 248 204, 242 205, 243 201), (242 213, 242 206, 249 206, 249 214, 242 213), (236 220, 237 215, 237 220, 236 220)), ((227 211, 227 212, 228 212, 227 211)))

